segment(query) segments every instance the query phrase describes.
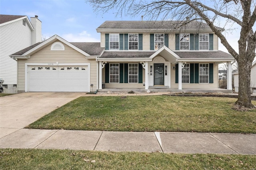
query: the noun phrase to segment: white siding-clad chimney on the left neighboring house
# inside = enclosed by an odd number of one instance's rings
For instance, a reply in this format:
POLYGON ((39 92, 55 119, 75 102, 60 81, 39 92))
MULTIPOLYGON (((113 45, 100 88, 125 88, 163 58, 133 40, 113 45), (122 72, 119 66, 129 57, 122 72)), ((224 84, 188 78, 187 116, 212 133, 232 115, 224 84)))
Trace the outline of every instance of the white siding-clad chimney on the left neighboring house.
POLYGON ((30 18, 31 24, 34 27, 32 31, 32 45, 38 42, 42 42, 42 22, 38 20, 38 16, 30 18))

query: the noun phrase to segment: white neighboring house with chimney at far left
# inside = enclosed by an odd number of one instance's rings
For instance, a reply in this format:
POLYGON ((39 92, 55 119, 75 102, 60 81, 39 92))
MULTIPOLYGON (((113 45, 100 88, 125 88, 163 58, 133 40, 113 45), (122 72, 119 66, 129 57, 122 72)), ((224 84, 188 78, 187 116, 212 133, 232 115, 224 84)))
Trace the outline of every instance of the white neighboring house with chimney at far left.
POLYGON ((9 55, 42 42, 42 23, 38 16, 0 15, 0 78, 4 93, 17 93, 17 61, 9 55), (31 20, 31 21, 30 21, 31 20))

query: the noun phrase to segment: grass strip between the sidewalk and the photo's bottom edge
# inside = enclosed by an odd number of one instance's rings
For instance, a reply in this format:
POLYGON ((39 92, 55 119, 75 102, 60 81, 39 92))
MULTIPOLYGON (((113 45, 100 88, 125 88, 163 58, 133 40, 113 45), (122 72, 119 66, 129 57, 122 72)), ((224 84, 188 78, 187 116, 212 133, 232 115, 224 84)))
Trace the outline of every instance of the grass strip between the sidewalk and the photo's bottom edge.
POLYGON ((254 170, 256 155, 164 154, 82 150, 0 149, 0 169, 254 170), (95 160, 91 163, 91 160, 95 160))

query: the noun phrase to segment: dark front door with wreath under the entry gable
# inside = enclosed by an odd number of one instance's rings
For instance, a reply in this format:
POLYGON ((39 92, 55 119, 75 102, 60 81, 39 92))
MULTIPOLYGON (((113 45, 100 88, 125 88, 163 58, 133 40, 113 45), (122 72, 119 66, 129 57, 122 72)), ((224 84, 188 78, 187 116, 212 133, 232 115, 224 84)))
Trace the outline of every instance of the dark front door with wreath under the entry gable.
POLYGON ((164 64, 154 64, 154 85, 164 85, 164 64))

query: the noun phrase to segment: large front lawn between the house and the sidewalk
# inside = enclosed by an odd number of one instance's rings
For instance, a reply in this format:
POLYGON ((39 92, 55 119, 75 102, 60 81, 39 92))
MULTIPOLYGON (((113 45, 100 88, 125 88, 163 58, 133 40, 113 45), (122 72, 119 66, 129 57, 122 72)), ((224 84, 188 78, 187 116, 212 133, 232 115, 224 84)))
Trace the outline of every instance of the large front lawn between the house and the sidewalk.
POLYGON ((232 109, 236 100, 167 95, 79 97, 27 128, 256 133, 256 110, 236 111, 232 109))

